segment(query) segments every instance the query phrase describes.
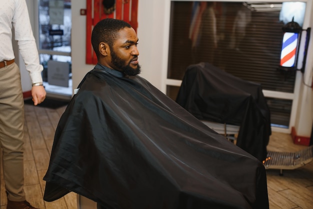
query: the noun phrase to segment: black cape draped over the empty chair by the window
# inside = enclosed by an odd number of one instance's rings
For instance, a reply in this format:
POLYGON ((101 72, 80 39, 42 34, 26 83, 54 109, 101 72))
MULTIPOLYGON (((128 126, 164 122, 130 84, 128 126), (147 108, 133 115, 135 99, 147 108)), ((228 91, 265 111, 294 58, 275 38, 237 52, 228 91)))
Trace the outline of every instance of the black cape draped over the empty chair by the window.
POLYGON ((239 125, 236 145, 266 158, 270 112, 259 83, 200 62, 187 67, 176 102, 200 120, 239 125))

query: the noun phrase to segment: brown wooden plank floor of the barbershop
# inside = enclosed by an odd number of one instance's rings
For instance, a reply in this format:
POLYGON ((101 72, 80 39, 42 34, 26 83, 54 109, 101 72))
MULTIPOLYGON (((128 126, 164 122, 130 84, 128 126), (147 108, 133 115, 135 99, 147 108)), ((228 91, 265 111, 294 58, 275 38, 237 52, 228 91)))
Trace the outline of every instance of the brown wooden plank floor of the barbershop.
MULTIPOLYGON (((26 199, 38 208, 77 208, 76 194, 46 202, 42 199, 45 181, 43 175, 48 166, 54 131, 65 107, 57 109, 25 105, 25 153, 24 175, 26 199)), ((297 151, 307 146, 292 143, 291 136, 273 132, 267 149, 270 151, 297 151)), ((313 161, 295 170, 266 170, 270 209, 313 208, 313 161)), ((1 171, 0 209, 6 208, 6 196, 1 171)))

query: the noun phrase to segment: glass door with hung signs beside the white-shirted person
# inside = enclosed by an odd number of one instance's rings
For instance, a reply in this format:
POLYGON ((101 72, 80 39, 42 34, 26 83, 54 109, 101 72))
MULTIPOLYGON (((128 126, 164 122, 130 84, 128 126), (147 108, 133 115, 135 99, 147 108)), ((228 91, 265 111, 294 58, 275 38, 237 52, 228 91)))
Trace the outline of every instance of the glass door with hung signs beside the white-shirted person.
POLYGON ((38 0, 38 52, 47 96, 69 99, 71 80, 71 1, 38 0))

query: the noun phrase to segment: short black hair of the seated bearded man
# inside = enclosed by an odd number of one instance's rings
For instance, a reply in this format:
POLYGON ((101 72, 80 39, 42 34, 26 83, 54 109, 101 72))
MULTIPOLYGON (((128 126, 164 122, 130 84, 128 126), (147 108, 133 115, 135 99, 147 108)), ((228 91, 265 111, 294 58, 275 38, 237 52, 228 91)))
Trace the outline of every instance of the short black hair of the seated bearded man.
POLYGON ((97 57, 99 57, 99 43, 105 42, 112 48, 118 31, 124 27, 130 28, 131 25, 120 19, 105 18, 96 23, 91 33, 91 44, 97 57))

